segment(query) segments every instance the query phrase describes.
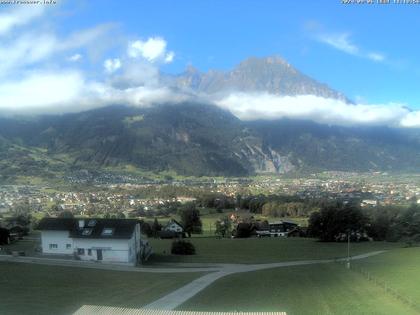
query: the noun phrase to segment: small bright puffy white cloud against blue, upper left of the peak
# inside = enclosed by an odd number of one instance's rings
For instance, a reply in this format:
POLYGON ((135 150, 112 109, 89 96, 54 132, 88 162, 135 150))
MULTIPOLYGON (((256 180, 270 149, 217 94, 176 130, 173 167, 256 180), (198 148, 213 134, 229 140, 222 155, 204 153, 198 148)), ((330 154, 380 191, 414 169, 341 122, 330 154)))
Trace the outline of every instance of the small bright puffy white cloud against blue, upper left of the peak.
POLYGON ((166 41, 161 37, 150 37, 146 41, 136 40, 128 44, 127 54, 131 58, 142 57, 149 62, 170 63, 174 59, 175 53, 167 52, 166 45, 166 41))

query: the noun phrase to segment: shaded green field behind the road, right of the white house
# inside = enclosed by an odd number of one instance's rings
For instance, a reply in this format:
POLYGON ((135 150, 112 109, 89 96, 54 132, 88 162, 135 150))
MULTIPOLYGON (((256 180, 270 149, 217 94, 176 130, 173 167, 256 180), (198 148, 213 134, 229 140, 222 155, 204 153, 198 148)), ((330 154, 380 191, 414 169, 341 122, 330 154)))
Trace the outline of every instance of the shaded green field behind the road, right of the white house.
MULTIPOLYGON (((347 255, 346 243, 322 243, 305 238, 191 238, 197 254, 170 255, 172 240, 149 239, 154 255, 151 262, 269 263, 303 259, 338 258, 347 255)), ((362 242, 351 244, 351 254, 398 248, 401 244, 362 242)))

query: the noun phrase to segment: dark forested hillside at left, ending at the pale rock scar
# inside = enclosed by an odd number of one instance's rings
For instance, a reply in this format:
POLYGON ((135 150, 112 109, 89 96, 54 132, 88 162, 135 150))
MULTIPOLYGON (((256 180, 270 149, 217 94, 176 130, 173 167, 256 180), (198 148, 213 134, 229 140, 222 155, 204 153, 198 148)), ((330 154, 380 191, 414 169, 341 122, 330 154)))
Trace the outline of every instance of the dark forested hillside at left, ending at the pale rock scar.
MULTIPOLYGON (((65 156, 68 168, 132 165, 183 175, 245 176, 290 167, 287 158, 285 166, 280 165, 283 157, 263 147, 261 138, 240 120, 207 104, 111 106, 32 121, 4 119, 0 135, 5 159, 16 158, 11 147, 19 144, 50 158, 65 156)), ((22 154, 21 158, 30 167, 16 172, 31 175, 29 169, 46 167, 32 165, 45 156, 31 159, 22 154)))

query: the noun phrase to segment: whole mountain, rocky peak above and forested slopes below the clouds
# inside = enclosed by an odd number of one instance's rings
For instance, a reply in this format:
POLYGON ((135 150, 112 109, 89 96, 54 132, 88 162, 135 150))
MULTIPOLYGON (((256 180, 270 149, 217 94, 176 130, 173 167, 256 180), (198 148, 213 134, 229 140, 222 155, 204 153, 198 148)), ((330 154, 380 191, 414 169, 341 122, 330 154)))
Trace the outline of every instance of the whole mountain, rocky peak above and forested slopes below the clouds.
MULTIPOLYGON (((194 68, 163 76, 194 93, 267 91, 350 102, 282 58, 250 58, 227 72, 194 68)), ((186 101, 0 118, 0 180, 74 170, 138 169, 194 176, 292 171, 413 171, 418 130, 342 127, 290 119, 241 121, 211 103, 186 101)))

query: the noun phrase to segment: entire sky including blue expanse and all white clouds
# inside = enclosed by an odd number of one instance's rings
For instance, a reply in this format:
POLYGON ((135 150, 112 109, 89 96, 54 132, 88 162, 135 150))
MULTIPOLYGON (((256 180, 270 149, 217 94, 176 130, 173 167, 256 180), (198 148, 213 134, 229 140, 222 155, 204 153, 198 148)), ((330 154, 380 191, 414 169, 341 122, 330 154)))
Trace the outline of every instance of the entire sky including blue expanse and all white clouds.
POLYGON ((182 101, 185 95, 159 82, 159 72, 180 73, 189 65, 228 70, 250 56, 279 55, 356 105, 264 91, 233 91, 212 101, 242 119, 420 126, 419 4, 52 2, 0 4, 0 110, 66 112, 182 101))

